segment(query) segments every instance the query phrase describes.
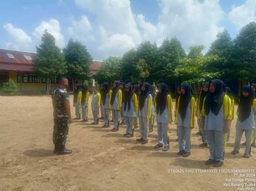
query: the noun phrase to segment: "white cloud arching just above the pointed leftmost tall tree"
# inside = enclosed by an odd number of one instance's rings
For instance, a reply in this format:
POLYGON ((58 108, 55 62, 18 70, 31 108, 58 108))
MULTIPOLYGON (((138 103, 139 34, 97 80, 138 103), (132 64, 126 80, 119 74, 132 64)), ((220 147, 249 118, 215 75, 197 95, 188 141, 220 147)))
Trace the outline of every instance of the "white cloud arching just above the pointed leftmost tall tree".
POLYGON ((56 45, 60 48, 64 47, 64 36, 61 34, 61 28, 59 26, 59 21, 56 19, 50 19, 49 22, 43 21, 38 27, 35 28, 33 35, 37 40, 41 40, 43 32, 45 29, 48 30, 56 39, 56 45))

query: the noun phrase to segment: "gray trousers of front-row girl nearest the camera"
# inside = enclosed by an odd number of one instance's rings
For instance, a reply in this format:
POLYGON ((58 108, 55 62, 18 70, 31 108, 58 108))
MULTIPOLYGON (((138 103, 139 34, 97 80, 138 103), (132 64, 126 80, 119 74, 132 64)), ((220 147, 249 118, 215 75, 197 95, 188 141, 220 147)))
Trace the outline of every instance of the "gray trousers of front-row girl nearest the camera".
POLYGON ((206 130, 206 138, 210 150, 210 159, 224 162, 225 132, 206 130))

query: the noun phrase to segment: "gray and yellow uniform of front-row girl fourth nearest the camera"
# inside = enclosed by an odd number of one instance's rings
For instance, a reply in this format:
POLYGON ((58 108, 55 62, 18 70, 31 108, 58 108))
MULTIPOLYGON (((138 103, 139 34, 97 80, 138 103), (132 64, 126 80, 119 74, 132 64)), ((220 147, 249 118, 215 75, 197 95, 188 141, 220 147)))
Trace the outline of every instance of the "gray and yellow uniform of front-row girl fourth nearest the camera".
POLYGON ((144 103, 143 108, 141 110, 139 108, 140 136, 144 140, 147 140, 147 136, 148 136, 148 133, 149 133, 147 114, 148 114, 148 108, 152 107, 152 105, 149 106, 149 98, 152 99, 151 94, 149 94, 147 96, 147 98, 145 99, 145 103, 144 103))

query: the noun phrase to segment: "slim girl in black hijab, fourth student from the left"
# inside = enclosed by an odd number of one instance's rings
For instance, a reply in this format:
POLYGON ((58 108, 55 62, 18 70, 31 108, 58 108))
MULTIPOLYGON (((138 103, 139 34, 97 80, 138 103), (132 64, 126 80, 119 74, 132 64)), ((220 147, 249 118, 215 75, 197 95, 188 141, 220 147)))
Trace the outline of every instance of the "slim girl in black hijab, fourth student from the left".
POLYGON ((110 98, 112 94, 112 90, 109 87, 109 83, 104 82, 101 84, 102 88, 102 109, 103 109, 103 116, 104 116, 104 125, 103 128, 110 127, 109 120, 110 120, 110 98))

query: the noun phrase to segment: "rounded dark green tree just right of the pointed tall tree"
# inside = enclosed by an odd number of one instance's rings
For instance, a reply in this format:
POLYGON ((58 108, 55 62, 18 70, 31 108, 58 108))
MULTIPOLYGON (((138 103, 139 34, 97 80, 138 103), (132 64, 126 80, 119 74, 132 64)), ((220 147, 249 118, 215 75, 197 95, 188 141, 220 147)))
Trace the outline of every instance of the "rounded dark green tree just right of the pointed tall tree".
POLYGON ((70 39, 63 52, 68 67, 67 75, 72 78, 73 85, 75 80, 88 80, 92 57, 86 46, 79 41, 70 39))

